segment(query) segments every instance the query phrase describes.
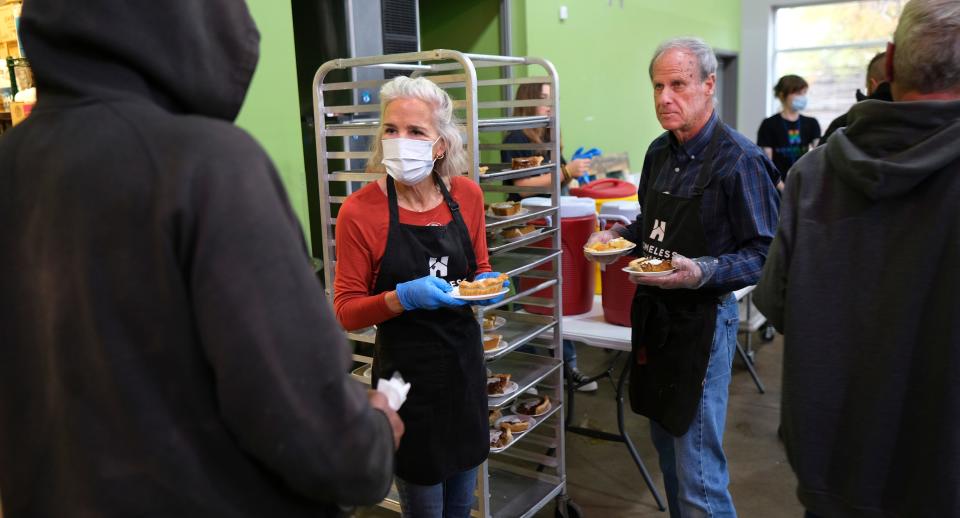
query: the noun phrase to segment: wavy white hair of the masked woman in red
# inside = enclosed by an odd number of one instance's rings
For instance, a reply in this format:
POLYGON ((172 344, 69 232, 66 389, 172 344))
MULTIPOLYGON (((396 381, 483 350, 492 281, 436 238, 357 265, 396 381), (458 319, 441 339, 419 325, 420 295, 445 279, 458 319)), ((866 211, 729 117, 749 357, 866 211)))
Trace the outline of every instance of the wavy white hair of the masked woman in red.
POLYGON ((384 83, 380 88, 380 128, 370 150, 373 156, 367 162, 367 169, 382 167, 383 162, 383 115, 387 105, 397 99, 419 99, 433 110, 433 125, 446 144, 443 158, 438 158, 434 169, 443 177, 463 174, 467 170, 467 156, 463 150, 463 136, 457 127, 453 115, 453 101, 442 88, 425 77, 411 79, 397 76, 384 83))

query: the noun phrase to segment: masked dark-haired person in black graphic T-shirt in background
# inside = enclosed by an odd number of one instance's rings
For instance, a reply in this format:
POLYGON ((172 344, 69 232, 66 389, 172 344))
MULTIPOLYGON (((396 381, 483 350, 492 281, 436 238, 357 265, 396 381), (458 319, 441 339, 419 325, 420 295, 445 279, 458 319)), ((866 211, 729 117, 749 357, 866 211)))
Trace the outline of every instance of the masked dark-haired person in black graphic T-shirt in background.
POLYGON ((757 131, 757 145, 780 172, 776 183, 781 189, 790 167, 820 139, 817 119, 800 114, 807 107, 807 87, 807 81, 800 76, 781 77, 773 87, 773 94, 780 100, 782 109, 765 119, 757 131))

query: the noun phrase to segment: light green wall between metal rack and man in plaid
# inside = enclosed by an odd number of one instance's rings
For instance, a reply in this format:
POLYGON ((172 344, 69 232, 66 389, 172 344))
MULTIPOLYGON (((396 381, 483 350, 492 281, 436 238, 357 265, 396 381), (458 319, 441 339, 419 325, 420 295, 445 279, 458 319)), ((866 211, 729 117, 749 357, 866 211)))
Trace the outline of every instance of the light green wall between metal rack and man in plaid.
POLYGON ((514 0, 514 48, 553 62, 560 75, 565 154, 580 146, 630 153, 639 171, 647 145, 663 130, 653 109, 647 66, 656 46, 698 36, 714 48, 739 51, 740 2, 685 0, 514 0), (560 21, 560 6, 568 18, 560 21), (518 42, 516 40, 525 40, 518 42))

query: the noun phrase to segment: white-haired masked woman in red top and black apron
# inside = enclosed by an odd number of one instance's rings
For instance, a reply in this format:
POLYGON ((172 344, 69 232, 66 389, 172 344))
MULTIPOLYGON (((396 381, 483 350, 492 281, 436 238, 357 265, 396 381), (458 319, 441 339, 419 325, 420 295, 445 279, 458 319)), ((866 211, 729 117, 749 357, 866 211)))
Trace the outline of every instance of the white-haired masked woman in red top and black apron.
POLYGON ((480 324, 449 292, 499 275, 487 258, 483 192, 461 176, 467 161, 445 91, 400 76, 380 102, 368 169, 387 175, 337 216, 334 306, 345 329, 377 325, 373 383, 399 372, 412 385, 397 451, 403 515, 466 518, 490 449, 487 374, 480 324))

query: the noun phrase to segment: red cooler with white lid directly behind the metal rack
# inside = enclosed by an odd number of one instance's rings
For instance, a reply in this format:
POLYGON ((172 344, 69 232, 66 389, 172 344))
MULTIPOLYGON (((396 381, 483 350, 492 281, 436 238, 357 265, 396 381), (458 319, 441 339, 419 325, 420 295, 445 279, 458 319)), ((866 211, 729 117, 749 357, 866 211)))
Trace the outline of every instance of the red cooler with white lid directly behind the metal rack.
MULTIPOLYGON (((549 205, 546 198, 523 201, 524 206, 549 205), (545 200, 545 201, 544 201, 545 200)), ((564 315, 580 315, 593 308, 594 275, 593 263, 583 255, 583 247, 587 244, 597 228, 597 214, 591 200, 580 200, 572 196, 560 198, 560 244, 563 250, 561 258, 561 285, 563 290, 562 312, 564 315)), ((552 238, 544 239, 532 246, 549 248, 552 238)), ((550 265, 537 267, 539 270, 550 270, 550 265)), ((520 279, 520 290, 525 290, 543 282, 542 279, 520 279)), ((534 297, 550 298, 553 288, 547 288, 533 294, 534 297)), ((530 313, 547 315, 550 308, 541 306, 524 306, 530 313)))

